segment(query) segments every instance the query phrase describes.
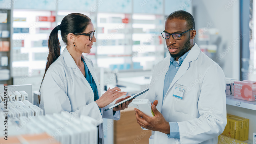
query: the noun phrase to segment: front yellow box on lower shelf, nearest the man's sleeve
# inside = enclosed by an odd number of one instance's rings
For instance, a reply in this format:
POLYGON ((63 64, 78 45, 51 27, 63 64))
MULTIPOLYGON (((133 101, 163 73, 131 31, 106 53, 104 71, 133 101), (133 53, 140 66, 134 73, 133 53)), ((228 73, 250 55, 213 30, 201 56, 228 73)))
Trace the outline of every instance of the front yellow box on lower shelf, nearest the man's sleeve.
POLYGON ((225 135, 230 138, 242 140, 243 132, 243 120, 233 118, 233 117, 228 117, 227 118, 227 125, 222 133, 222 135, 225 135))

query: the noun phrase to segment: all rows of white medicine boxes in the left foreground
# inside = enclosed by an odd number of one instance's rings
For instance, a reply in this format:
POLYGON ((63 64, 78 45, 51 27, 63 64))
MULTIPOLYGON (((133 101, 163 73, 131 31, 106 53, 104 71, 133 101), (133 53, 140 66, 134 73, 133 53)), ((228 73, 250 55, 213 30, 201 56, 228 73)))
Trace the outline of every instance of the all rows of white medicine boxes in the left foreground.
MULTIPOLYGON (((25 91, 8 92, 7 95, 6 104, 4 93, 0 93, 0 121, 4 121, 4 111, 8 110, 8 136, 46 132, 50 141, 55 139, 64 144, 98 143, 95 119, 83 115, 79 117, 74 112, 44 116, 44 110, 28 101, 25 91)), ((0 127, 4 127, 3 124, 0 123, 0 127)))

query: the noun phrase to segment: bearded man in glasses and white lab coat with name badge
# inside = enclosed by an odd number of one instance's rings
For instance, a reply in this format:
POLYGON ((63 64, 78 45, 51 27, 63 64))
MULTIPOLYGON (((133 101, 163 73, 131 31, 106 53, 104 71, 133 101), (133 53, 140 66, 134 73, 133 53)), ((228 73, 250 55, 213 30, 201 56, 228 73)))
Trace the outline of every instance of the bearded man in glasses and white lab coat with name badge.
POLYGON ((216 144, 226 126, 225 75, 194 43, 194 29, 193 16, 183 10, 165 21, 162 36, 170 56, 156 64, 145 96, 155 100, 155 116, 134 109, 137 123, 155 131, 150 144, 216 144))

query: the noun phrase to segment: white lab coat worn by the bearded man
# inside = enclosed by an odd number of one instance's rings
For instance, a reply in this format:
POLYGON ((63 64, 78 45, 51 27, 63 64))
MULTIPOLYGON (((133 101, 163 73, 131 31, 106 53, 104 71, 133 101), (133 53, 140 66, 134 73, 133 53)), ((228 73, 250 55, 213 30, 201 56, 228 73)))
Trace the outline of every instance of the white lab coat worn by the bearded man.
POLYGON ((170 56, 155 66, 145 98, 152 103, 157 99, 157 109, 166 121, 178 123, 180 139, 168 139, 166 134, 155 131, 150 144, 216 144, 227 123, 226 81, 222 69, 195 44, 163 100, 164 79, 169 65, 170 56), (182 99, 173 96, 175 84, 185 86, 182 99))

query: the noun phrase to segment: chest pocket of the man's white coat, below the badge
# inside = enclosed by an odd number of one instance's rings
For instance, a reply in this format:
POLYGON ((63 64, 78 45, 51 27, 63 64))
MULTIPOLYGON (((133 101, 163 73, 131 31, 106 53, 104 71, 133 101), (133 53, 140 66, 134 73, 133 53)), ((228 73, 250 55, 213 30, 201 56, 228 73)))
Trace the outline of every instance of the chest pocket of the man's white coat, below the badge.
POLYGON ((196 88, 191 88, 190 91, 185 89, 182 99, 173 96, 173 112, 194 116, 195 97, 196 88))

